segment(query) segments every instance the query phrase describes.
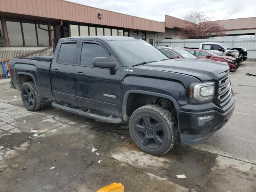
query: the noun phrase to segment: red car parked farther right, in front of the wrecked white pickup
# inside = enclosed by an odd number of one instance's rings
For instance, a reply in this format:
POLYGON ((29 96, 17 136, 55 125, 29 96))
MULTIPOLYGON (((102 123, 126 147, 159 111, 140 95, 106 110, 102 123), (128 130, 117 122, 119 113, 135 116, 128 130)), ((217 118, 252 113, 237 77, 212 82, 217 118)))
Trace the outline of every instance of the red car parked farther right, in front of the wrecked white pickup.
POLYGON ((209 50, 203 50, 203 49, 186 49, 186 50, 198 58, 227 62, 230 71, 236 71, 237 68, 239 67, 239 64, 236 62, 236 58, 231 56, 218 56, 217 54, 209 50))

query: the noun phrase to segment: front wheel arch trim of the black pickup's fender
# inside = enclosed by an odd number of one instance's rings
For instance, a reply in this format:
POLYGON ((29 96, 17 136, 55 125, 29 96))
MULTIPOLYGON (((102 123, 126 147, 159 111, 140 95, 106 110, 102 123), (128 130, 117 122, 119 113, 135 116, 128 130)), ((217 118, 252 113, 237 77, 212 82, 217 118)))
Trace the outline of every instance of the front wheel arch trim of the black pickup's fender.
POLYGON ((122 116, 123 116, 123 119, 125 121, 128 120, 128 115, 127 115, 128 97, 132 93, 145 94, 145 95, 149 95, 149 96, 156 96, 156 97, 159 97, 159 98, 165 98, 167 100, 170 100, 174 104, 174 107, 175 107, 176 110, 178 110, 180 108, 179 105, 178 105, 178 102, 172 96, 162 94, 162 93, 157 93, 157 92, 144 91, 144 90, 135 90, 135 89, 127 90, 124 93, 123 102, 122 102, 122 116))

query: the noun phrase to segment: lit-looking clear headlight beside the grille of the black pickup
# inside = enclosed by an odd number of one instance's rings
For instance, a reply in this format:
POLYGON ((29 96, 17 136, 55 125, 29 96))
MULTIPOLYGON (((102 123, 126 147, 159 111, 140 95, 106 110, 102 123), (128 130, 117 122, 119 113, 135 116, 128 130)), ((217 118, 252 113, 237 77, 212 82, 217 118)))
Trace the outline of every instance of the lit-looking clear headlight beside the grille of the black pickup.
POLYGON ((214 97, 215 82, 190 84, 190 98, 196 102, 211 101, 214 97))

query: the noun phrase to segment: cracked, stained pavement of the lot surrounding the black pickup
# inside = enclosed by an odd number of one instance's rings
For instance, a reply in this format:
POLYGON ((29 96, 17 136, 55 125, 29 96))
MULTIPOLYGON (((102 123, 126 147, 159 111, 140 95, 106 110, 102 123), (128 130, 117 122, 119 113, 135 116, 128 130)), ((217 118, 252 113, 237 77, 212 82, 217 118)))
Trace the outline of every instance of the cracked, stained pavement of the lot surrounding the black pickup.
POLYGON ((248 72, 256 74, 256 62, 230 73, 236 108, 224 128, 203 144, 177 145, 164 156, 138 150, 126 124, 95 122, 50 101, 29 112, 2 78, 0 191, 96 192, 121 182, 126 192, 255 192, 256 77, 248 72))

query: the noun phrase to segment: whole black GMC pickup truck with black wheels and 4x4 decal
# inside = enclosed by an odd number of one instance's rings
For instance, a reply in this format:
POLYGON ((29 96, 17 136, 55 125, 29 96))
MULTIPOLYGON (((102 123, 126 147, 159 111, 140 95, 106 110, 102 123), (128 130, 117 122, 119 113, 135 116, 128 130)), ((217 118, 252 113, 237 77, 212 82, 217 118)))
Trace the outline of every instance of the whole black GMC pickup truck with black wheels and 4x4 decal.
POLYGON ((134 143, 155 155, 175 142, 205 141, 235 106, 228 65, 169 60, 138 38, 62 38, 53 57, 15 58, 9 67, 28 110, 50 99, 54 108, 97 121, 129 120, 134 143))

